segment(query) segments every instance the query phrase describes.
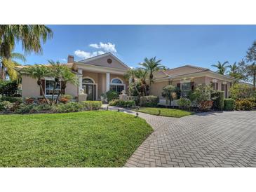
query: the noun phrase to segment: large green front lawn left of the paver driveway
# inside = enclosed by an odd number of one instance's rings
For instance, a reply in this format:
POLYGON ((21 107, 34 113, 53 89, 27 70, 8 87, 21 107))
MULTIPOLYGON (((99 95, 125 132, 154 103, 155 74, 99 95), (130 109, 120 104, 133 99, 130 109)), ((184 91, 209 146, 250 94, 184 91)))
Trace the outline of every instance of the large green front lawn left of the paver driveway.
POLYGON ((0 115, 0 167, 121 167, 152 128, 116 111, 0 115))

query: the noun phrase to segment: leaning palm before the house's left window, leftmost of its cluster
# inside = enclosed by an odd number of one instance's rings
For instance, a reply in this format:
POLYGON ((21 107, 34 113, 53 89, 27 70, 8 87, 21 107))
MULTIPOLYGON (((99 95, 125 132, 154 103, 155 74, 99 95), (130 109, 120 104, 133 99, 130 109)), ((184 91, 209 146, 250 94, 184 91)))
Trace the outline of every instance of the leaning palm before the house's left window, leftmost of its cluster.
POLYGON ((29 67, 23 68, 22 72, 31 76, 32 78, 37 79, 37 85, 39 85, 39 87, 40 87, 43 98, 46 100, 46 103, 49 104, 48 100, 46 99, 46 94, 43 91, 43 85, 41 83, 41 80, 45 76, 50 76, 51 73, 50 73, 49 67, 46 67, 44 65, 35 64, 34 66, 29 66, 29 67))

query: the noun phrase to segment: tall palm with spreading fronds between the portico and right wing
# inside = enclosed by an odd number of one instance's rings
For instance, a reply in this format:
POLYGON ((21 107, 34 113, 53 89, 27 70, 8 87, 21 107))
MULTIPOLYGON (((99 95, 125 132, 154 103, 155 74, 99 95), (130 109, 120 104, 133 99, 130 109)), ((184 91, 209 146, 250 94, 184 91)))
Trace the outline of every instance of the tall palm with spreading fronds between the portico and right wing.
POLYGON ((149 92, 151 88, 151 83, 153 82, 154 75, 153 73, 155 71, 159 71, 161 69, 166 69, 165 66, 161 64, 162 60, 156 60, 156 57, 153 57, 151 59, 148 59, 147 57, 144 58, 144 62, 140 63, 140 65, 143 67, 143 69, 149 71, 149 92))

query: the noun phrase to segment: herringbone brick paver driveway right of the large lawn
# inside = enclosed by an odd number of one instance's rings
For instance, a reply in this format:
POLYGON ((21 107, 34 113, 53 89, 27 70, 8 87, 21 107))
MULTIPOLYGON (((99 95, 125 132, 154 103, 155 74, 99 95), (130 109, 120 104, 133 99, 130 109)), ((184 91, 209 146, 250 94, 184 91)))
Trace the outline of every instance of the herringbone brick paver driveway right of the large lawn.
POLYGON ((256 167, 256 111, 140 116, 155 131, 125 167, 256 167))

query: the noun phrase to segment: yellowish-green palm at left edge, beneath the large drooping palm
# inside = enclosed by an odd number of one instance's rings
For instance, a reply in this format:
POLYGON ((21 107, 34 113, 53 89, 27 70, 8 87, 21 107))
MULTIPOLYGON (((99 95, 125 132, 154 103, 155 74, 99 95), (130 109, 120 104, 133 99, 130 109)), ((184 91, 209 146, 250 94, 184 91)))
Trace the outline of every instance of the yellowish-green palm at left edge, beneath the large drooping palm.
POLYGON ((11 80, 15 80, 18 77, 17 71, 14 69, 15 66, 20 65, 15 60, 22 60, 22 62, 26 62, 26 58, 21 53, 11 53, 11 57, 7 60, 5 57, 0 56, 0 76, 2 80, 6 80, 6 76, 11 78, 11 80))

